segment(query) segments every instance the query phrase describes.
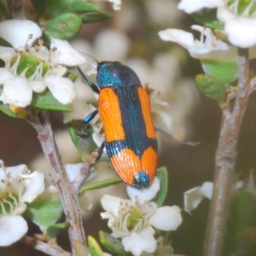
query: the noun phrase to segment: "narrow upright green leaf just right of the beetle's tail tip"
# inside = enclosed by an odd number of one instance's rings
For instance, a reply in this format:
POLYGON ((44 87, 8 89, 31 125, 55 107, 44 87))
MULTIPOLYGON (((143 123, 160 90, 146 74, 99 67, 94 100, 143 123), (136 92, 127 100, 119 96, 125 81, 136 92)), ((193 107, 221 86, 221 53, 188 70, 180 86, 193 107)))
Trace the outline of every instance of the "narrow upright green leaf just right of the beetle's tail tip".
POLYGON ((160 167, 156 171, 156 176, 160 179, 160 191, 154 197, 154 202, 161 207, 166 200, 168 193, 168 172, 166 166, 160 167))

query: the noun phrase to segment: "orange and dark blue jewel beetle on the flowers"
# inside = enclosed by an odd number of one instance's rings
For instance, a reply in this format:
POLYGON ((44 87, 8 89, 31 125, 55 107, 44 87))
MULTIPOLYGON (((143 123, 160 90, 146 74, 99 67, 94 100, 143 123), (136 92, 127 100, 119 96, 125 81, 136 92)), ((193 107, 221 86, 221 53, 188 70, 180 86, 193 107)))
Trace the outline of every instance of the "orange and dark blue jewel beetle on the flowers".
POLYGON ((140 189, 153 182, 158 146, 151 116, 150 99, 130 67, 118 61, 97 63, 97 85, 81 72, 91 90, 99 94, 98 109, 84 119, 84 125, 100 115, 106 152, 113 169, 127 184, 140 189))

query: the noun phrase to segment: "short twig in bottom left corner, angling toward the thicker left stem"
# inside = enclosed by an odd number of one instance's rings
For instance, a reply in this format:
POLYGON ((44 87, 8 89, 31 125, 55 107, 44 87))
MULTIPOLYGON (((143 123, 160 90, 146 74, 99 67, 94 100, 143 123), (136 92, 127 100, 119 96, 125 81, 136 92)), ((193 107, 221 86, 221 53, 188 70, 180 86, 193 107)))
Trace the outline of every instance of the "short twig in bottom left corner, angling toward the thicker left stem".
POLYGON ((39 241, 32 236, 24 236, 21 241, 29 247, 32 247, 38 251, 44 252, 52 256, 71 256, 71 253, 64 251, 61 247, 55 244, 39 241))

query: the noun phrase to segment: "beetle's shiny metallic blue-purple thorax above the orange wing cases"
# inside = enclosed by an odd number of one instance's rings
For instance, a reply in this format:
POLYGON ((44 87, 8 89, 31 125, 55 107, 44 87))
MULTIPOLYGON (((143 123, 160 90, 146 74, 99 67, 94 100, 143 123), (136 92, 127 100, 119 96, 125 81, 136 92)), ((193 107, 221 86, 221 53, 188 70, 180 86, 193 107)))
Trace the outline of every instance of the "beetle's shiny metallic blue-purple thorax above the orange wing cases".
POLYGON ((141 84, 137 74, 118 61, 102 61, 97 65, 97 84, 100 88, 109 86, 129 86, 141 84))

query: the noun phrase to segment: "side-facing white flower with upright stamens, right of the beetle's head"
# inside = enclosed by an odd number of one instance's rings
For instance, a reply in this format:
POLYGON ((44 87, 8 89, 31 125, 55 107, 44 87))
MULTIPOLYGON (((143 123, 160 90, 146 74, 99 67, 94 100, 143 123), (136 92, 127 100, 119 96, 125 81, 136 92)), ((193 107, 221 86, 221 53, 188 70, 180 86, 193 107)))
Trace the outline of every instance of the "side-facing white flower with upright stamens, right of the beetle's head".
POLYGON ((180 44, 189 51, 195 59, 204 60, 227 60, 233 59, 236 48, 230 47, 214 36, 211 29, 203 26, 191 26, 195 31, 201 32, 200 40, 194 39, 190 32, 179 29, 166 29, 159 32, 159 36, 164 41, 171 41, 180 44))

